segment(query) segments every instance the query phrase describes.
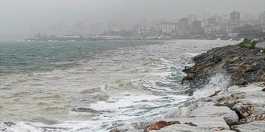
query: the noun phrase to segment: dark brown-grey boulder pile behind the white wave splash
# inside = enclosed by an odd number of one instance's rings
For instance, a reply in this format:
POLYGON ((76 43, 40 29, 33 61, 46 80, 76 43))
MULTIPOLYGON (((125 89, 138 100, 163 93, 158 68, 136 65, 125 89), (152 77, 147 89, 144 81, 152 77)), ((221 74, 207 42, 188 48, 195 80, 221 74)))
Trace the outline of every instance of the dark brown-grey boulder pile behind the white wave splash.
POLYGON ((208 50, 195 56, 193 61, 194 66, 182 70, 187 73, 182 84, 190 82, 191 89, 186 92, 189 95, 208 84, 211 77, 220 73, 220 70, 230 78, 227 88, 265 81, 265 53, 261 53, 260 49, 228 45, 208 50))

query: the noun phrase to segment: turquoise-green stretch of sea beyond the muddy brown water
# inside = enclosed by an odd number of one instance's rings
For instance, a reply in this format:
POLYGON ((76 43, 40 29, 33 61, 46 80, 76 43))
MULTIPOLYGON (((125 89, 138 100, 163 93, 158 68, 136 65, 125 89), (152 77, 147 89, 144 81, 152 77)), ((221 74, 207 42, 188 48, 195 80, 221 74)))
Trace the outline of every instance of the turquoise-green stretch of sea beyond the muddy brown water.
MULTIPOLYGON (((161 43, 152 41, 152 44, 161 43)), ((150 45, 150 41, 2 41, 1 74, 36 72, 73 67, 88 53, 128 46, 150 45)))

